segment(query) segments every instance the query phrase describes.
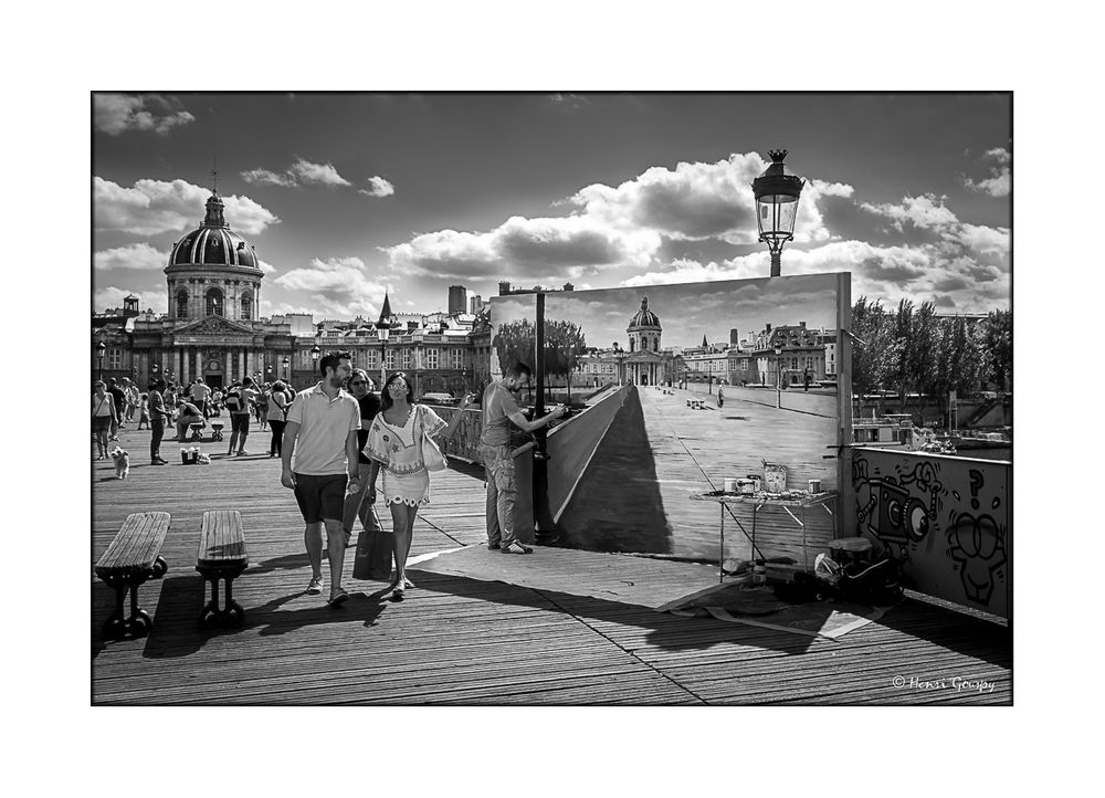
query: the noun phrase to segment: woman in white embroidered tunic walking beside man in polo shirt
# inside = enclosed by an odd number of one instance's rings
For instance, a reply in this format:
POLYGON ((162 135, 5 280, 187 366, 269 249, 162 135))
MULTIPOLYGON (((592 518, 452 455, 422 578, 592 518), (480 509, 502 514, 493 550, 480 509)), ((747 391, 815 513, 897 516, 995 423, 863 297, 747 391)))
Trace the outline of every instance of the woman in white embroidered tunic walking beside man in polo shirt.
POLYGON ((465 396, 446 424, 424 405, 414 403, 414 388, 402 371, 396 372, 380 391, 381 410, 368 431, 365 454, 371 460, 368 501, 376 501, 376 476, 383 472, 383 503, 391 510, 396 575, 392 599, 401 601, 403 590, 414 587, 407 578, 407 555, 411 548, 419 506, 430 501, 430 472, 422 459, 422 438, 452 437, 463 411, 472 401, 465 396))

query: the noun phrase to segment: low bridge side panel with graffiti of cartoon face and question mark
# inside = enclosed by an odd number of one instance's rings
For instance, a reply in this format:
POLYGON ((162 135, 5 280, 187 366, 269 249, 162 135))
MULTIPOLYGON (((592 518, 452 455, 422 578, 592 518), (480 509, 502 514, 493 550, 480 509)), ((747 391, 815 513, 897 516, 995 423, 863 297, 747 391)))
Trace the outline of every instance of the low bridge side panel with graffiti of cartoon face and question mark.
POLYGON ((902 563, 906 587, 1008 618, 1011 472, 1011 463, 854 449, 851 528, 902 563))

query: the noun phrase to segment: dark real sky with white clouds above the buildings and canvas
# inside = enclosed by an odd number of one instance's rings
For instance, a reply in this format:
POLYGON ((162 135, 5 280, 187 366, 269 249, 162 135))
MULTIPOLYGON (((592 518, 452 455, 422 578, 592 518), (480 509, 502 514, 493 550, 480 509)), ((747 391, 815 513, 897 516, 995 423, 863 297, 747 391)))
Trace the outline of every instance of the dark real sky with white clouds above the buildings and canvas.
POLYGON ((91 114, 97 311, 167 309, 162 269, 215 185, 263 316, 762 277, 750 183, 771 149, 806 180, 785 276, 1011 305, 1008 93, 98 92, 91 114))

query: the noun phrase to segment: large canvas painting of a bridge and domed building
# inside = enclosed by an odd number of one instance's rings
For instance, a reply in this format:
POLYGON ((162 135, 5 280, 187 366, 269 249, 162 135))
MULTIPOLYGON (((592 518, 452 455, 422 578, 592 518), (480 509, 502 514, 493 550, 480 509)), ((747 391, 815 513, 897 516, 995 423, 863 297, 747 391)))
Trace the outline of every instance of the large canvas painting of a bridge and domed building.
MULTIPOLYGON (((762 556, 812 565, 833 536, 832 495, 759 508, 692 496, 726 480, 834 494, 846 293, 841 274, 547 293, 546 403, 577 410, 548 435, 561 545, 749 558, 755 536, 762 556)), ((537 324, 536 295, 492 301, 493 375, 534 366, 537 324)))

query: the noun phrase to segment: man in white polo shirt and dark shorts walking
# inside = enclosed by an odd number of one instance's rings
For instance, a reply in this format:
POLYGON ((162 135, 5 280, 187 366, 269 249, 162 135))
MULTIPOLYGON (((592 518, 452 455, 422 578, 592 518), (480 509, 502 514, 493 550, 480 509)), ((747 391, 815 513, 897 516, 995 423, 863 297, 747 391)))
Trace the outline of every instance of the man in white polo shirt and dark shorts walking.
POLYGON ((295 491, 295 501, 307 528, 303 542, 311 560, 307 592, 323 591, 323 531, 330 559, 330 598, 337 607, 349 598, 341 589, 346 534, 341 531, 346 485, 356 480, 357 430, 360 406, 341 389, 352 370, 348 351, 327 353, 318 361, 323 379, 311 390, 299 391, 292 400, 284 427, 280 482, 295 491), (293 450, 295 466, 292 465, 293 450))

